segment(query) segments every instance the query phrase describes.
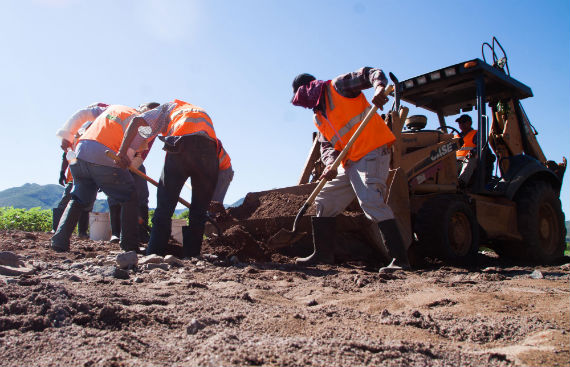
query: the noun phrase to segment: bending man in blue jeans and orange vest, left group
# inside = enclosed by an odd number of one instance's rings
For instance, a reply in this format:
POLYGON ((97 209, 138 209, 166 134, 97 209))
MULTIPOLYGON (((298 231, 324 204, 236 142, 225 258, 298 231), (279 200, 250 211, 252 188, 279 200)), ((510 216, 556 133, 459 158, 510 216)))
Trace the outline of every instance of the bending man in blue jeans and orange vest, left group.
MULTIPOLYGON (((70 162, 74 187, 62 220, 51 238, 54 250, 69 251, 69 240, 79 215, 95 200, 100 189, 121 203, 121 249, 138 251, 137 196, 133 177, 105 154, 107 150, 115 153, 119 150, 123 132, 136 114, 134 108, 111 105, 79 138, 76 159, 70 162)), ((134 150, 129 150, 129 154, 134 157, 134 150)))

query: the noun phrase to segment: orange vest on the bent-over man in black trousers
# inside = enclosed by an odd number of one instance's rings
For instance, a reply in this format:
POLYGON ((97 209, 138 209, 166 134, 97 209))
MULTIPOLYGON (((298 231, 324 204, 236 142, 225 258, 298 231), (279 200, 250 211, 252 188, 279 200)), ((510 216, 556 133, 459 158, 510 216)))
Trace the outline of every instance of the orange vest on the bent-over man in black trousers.
POLYGON ((170 112, 170 123, 165 136, 184 136, 203 131, 216 140, 214 124, 203 108, 190 103, 174 100, 176 107, 170 112))

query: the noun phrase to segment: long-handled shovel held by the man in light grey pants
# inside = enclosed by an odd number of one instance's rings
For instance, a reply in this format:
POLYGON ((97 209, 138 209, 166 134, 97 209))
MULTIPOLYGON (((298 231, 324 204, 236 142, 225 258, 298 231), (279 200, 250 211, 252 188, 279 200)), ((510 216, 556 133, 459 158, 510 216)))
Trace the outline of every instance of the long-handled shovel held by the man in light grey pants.
MULTIPOLYGON (((388 95, 393 90, 394 90, 394 86, 389 85, 388 87, 386 87, 384 94, 388 95)), ((372 118, 372 116, 374 116, 374 114, 376 113, 377 110, 378 110, 378 107, 373 106, 370 109, 370 111, 368 111, 368 114, 366 115, 364 120, 362 120, 358 129, 356 129, 356 131, 354 132, 354 134, 352 135, 352 137, 350 138, 348 143, 346 143, 346 146, 343 148, 343 150, 340 152, 340 154, 338 155, 338 157, 336 158, 336 160, 332 164, 332 166, 330 168, 331 170, 335 170, 338 168, 338 166, 340 165, 340 163, 342 162, 344 157, 346 157, 348 150, 352 147, 352 144, 354 144, 354 141, 358 138, 358 136, 360 135, 362 130, 364 130, 364 128, 368 124, 368 121, 370 121, 370 119, 372 118)), ((297 223, 299 222, 301 217, 303 217, 303 215, 305 214, 307 209, 309 209, 309 206, 311 206, 313 201, 315 201, 315 198, 317 197, 317 195, 319 194, 319 192, 321 191, 323 186, 325 186, 326 183, 327 183, 326 178, 323 178, 321 181, 319 181, 317 187, 315 187, 315 189, 313 190, 313 192, 311 193, 311 195, 309 196, 307 201, 305 201, 305 203, 301 207, 301 210, 299 210, 299 212, 297 213, 297 216, 295 217, 295 221, 293 222, 293 229, 291 231, 286 230, 285 228, 280 229, 279 232, 277 232, 275 235, 273 235, 273 237, 271 237, 269 239, 269 241, 267 242, 267 246, 269 248, 278 249, 281 247, 289 246, 290 244, 299 241, 303 236, 306 235, 305 232, 298 232, 297 231, 297 223)))

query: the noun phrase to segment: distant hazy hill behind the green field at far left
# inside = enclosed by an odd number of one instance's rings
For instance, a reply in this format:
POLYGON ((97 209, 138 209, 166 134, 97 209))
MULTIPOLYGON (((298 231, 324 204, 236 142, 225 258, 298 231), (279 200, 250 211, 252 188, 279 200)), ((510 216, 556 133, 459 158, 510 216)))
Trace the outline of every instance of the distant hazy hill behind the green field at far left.
MULTIPOLYGON (((0 207, 12 206, 20 209, 40 207, 51 209, 57 206, 63 195, 63 186, 24 184, 0 191, 0 207)), ((107 212, 107 200, 97 200, 93 206, 95 212, 107 212)))

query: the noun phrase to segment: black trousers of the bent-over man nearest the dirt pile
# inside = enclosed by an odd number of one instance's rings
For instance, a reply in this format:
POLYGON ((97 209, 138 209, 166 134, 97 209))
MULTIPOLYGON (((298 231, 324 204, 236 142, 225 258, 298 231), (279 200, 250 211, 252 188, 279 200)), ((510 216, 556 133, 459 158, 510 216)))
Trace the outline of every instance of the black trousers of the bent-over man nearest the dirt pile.
POLYGON ((218 180, 216 143, 203 136, 187 135, 169 149, 158 183, 157 206, 152 218, 147 254, 164 255, 172 226, 172 214, 184 182, 190 177, 192 205, 188 226, 191 233, 184 237, 183 243, 185 256, 190 256, 190 248, 199 248, 202 243, 206 211, 218 180))

